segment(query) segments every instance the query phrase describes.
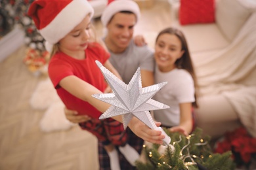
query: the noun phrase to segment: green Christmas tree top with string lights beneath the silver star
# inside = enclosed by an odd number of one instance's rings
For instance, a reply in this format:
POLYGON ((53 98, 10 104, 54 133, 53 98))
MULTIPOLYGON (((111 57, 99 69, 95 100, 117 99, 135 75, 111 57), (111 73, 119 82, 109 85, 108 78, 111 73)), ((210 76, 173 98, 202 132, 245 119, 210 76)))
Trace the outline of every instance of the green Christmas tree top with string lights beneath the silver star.
POLYGON ((171 137, 171 143, 168 146, 144 144, 146 162, 137 161, 137 169, 235 169, 232 152, 213 154, 210 137, 202 137, 202 129, 196 128, 188 137, 163 129, 171 137))

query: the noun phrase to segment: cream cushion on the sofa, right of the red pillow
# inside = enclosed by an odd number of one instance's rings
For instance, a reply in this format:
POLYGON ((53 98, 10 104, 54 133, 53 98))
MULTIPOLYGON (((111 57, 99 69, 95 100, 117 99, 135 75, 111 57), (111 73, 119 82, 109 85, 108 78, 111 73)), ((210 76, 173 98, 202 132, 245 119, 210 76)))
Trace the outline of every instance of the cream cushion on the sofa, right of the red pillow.
MULTIPOLYGON (((248 1, 248 0, 245 0, 248 1)), ((215 22, 228 41, 232 41, 251 15, 239 0, 219 0, 215 9, 215 22)))

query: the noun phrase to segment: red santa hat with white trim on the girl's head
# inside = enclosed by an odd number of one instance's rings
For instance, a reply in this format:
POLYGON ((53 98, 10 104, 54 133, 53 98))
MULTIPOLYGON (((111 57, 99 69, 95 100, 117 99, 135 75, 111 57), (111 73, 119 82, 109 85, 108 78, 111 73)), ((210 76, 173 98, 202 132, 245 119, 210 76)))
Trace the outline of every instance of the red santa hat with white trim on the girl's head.
POLYGON ((35 26, 47 41, 47 50, 65 37, 87 14, 94 14, 87 0, 36 0, 28 9, 35 26))

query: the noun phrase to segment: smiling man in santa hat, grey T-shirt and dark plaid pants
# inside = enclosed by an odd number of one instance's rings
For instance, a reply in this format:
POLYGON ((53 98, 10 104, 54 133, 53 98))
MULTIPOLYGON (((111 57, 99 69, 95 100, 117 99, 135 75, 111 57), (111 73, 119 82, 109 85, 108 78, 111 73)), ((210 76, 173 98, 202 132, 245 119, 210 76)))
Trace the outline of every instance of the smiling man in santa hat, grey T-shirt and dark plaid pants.
MULTIPOLYGON (((101 21, 107 29, 104 42, 110 52, 110 62, 125 84, 129 84, 138 67, 142 77, 142 86, 154 84, 154 52, 148 46, 136 46, 133 41, 135 24, 140 18, 140 10, 132 0, 116 0, 110 3, 101 16, 101 21)), ((74 116, 75 112, 66 112, 68 120, 74 123, 85 122, 87 116, 74 116)), ((127 128, 128 143, 141 152, 144 141, 127 128)), ((109 158, 102 143, 98 143, 100 169, 110 169, 109 158)), ((119 154, 121 169, 135 169, 122 154, 119 154)))

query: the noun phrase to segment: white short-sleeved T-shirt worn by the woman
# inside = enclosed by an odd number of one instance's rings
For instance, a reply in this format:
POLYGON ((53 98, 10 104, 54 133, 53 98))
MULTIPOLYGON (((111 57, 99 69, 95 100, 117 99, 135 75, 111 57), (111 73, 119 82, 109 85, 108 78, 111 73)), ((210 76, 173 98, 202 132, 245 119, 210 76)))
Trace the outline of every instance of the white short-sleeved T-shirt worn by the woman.
POLYGON ((154 118, 164 126, 178 126, 180 123, 179 103, 195 101, 194 80, 184 69, 173 69, 163 73, 156 66, 155 83, 167 82, 153 99, 169 105, 169 109, 154 110, 154 118))

